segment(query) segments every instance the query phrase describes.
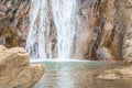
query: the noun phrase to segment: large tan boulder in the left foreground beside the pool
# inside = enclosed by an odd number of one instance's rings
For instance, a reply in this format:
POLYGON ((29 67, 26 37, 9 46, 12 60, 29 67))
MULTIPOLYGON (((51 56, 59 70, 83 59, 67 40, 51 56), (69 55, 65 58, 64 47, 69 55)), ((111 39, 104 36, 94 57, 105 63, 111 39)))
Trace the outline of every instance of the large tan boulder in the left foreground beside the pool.
POLYGON ((23 48, 0 46, 0 88, 32 88, 44 69, 43 65, 31 65, 23 48))

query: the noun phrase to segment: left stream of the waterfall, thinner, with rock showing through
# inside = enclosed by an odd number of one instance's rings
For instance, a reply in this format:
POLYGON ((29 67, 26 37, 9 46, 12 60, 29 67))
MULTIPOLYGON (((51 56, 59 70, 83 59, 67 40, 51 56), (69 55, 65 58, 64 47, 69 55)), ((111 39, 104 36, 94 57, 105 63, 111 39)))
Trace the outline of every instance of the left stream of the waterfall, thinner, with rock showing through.
POLYGON ((47 13, 47 0, 31 0, 30 32, 25 46, 30 58, 52 57, 47 13))

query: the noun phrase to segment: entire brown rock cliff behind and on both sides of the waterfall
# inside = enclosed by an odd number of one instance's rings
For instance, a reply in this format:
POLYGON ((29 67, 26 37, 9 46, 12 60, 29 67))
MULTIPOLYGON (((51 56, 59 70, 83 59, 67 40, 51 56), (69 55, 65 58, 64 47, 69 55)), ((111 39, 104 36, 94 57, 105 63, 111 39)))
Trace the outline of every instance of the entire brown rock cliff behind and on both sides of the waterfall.
MULTIPOLYGON (((0 0, 0 44, 24 46, 30 0, 0 0)), ((132 61, 132 1, 78 0, 78 7, 77 31, 80 34, 75 40, 74 58, 132 61)), ((55 53, 54 23, 51 29, 55 53)))

